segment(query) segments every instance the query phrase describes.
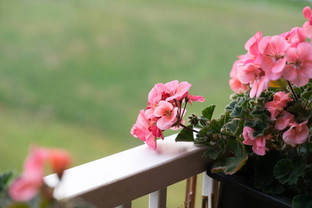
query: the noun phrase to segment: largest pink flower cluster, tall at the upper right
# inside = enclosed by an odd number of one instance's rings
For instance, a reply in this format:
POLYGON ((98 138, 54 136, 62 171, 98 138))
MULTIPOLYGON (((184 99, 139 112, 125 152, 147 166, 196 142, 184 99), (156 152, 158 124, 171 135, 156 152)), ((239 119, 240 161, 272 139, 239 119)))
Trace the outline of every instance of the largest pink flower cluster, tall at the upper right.
POLYGON ((312 78, 312 12, 303 10, 308 21, 302 28, 295 27, 281 35, 262 37, 256 33, 245 44, 248 51, 234 62, 229 85, 235 92, 246 92, 251 87, 250 98, 261 95, 271 80, 284 78, 293 85, 304 86, 312 78))

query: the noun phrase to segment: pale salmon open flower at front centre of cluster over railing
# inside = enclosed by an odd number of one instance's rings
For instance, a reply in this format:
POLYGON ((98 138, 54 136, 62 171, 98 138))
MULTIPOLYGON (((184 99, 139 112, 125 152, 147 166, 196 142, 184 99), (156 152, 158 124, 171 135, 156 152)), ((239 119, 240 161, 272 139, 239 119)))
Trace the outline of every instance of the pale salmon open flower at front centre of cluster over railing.
POLYGON ((167 130, 177 122, 177 107, 173 107, 171 103, 160 101, 155 108, 154 115, 160 117, 157 121, 157 127, 161 130, 167 130))

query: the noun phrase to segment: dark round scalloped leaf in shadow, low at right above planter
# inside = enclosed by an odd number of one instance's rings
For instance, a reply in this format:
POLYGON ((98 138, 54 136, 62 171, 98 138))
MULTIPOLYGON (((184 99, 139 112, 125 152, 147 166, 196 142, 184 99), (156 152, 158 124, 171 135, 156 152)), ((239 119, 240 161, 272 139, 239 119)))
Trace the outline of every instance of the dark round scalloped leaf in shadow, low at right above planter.
POLYGON ((297 184, 300 176, 304 175, 303 157, 297 156, 293 159, 281 159, 274 168, 275 177, 281 184, 297 184))

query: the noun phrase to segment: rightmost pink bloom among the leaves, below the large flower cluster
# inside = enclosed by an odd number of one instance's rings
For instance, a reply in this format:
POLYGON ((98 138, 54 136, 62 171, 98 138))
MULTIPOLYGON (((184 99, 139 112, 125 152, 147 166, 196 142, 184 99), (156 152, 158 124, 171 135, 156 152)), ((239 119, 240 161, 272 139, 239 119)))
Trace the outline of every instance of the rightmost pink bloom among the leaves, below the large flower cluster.
POLYGON ((309 136, 309 128, 306 126, 306 123, 308 123, 308 121, 304 121, 300 124, 289 123, 291 128, 286 130, 283 134, 285 143, 292 146, 304 143, 309 136))

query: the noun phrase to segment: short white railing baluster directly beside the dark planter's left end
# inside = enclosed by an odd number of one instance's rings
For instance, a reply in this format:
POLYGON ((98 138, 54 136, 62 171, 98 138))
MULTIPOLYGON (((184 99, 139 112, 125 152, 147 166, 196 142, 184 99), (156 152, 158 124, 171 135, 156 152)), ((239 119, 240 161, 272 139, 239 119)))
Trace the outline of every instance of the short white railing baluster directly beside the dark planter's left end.
POLYGON ((208 196, 208 208, 216 208, 218 200, 218 181, 209 177, 206 173, 203 174, 202 180, 202 196, 208 196), (214 205, 211 206, 211 196, 213 196, 214 205))

